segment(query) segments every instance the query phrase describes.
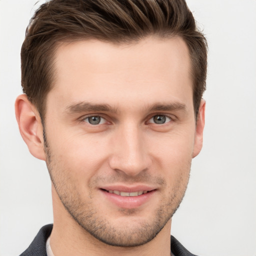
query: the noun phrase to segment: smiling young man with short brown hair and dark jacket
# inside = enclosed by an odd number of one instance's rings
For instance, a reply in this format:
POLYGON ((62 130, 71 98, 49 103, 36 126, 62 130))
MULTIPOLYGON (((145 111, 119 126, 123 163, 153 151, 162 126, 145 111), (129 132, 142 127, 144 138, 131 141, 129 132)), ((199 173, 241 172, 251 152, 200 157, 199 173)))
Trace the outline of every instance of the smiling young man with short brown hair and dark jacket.
POLYGON ((20 133, 53 227, 21 255, 193 255, 171 217, 202 146, 206 41, 183 0, 52 0, 21 48, 20 133))

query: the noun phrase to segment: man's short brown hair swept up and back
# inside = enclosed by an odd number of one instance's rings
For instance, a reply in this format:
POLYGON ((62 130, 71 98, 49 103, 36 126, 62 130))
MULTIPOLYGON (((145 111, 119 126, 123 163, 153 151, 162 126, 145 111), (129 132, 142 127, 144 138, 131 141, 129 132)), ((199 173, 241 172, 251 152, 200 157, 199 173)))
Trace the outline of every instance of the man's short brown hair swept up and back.
POLYGON ((185 0, 50 0, 42 4, 29 22, 21 47, 23 92, 43 120, 59 42, 93 38, 119 44, 150 34, 180 36, 186 42, 197 115, 205 90, 207 43, 185 0))

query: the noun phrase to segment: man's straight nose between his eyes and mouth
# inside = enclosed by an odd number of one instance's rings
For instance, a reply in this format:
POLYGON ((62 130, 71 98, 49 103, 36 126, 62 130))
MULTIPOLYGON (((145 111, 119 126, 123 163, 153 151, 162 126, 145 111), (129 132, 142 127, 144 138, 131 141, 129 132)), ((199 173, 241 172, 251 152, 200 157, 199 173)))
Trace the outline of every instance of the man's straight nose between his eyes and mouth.
POLYGON ((114 133, 110 142, 110 167, 129 176, 136 176, 147 170, 151 165, 151 158, 143 131, 136 125, 129 124, 119 127, 114 133))

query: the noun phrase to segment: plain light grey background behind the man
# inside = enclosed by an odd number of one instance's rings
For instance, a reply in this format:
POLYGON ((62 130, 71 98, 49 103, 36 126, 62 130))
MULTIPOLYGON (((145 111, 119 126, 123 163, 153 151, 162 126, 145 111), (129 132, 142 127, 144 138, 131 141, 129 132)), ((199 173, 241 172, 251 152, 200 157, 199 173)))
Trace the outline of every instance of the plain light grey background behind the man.
MULTIPOLYGON (((29 154, 14 117, 19 52, 36 1, 0 0, 1 256, 18 255, 52 222, 45 163, 29 154)), ((206 125, 171 232, 195 254, 255 256, 256 0, 187 3, 209 44, 206 125)))

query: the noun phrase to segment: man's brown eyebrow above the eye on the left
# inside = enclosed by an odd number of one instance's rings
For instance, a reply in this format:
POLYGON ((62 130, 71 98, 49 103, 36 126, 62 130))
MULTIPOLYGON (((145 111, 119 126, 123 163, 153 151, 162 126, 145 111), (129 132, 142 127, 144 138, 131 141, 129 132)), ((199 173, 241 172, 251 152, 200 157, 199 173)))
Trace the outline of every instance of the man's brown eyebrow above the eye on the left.
POLYGON ((65 112, 67 113, 98 112, 98 111, 116 113, 117 109, 111 107, 108 104, 92 104, 89 102, 78 102, 75 104, 71 104, 65 108, 65 112))

